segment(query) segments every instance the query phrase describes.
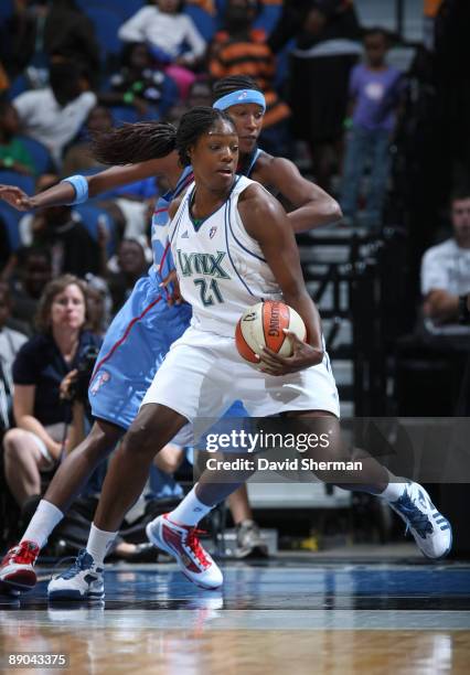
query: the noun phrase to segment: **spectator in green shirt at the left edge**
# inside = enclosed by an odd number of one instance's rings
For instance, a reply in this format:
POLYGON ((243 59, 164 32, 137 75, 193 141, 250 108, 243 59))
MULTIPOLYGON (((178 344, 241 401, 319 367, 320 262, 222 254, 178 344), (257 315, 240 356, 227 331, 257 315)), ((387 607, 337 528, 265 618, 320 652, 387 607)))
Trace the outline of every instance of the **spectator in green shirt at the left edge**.
POLYGON ((35 173, 34 162, 18 138, 19 131, 17 109, 8 100, 0 101, 0 170, 31 175, 35 173))

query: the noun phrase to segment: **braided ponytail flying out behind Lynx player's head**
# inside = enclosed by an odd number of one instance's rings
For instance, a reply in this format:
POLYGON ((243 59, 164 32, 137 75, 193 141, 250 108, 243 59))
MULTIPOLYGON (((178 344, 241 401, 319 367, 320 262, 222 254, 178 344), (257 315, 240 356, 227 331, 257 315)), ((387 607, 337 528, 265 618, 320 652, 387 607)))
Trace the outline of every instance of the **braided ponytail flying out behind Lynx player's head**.
POLYGON ((170 154, 177 147, 177 129, 169 122, 122 125, 92 140, 92 153, 103 164, 137 164, 170 154))

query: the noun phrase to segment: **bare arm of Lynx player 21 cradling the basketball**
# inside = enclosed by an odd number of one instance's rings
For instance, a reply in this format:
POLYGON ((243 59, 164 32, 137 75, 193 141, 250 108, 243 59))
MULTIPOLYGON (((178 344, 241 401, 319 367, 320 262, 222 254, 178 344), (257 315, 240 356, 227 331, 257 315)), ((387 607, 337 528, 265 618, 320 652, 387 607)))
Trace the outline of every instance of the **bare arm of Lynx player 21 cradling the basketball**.
POLYGON ((300 267, 293 232, 287 226, 281 205, 260 185, 250 185, 242 194, 239 213, 247 233, 258 242, 267 264, 279 283, 284 300, 299 312, 307 326, 307 343, 293 335, 293 354, 281 357, 269 350, 261 353, 266 372, 285 375, 321 363, 323 347, 318 310, 311 300, 300 267))

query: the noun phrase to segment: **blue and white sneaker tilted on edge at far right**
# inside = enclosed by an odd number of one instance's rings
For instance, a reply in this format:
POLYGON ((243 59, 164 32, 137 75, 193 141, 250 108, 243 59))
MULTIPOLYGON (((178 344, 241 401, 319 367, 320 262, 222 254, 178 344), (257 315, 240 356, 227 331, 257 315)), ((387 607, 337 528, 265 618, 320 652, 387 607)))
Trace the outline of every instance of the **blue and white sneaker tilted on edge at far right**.
POLYGON ((421 485, 408 483, 399 500, 388 504, 405 521, 406 532, 409 529, 427 558, 447 556, 452 547, 452 528, 421 485))

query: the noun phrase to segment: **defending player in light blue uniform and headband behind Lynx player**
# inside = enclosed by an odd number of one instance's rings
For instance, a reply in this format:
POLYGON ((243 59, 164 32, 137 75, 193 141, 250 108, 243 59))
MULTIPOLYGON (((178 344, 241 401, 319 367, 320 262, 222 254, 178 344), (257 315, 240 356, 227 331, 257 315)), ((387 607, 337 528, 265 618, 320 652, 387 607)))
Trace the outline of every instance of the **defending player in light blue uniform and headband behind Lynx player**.
MULTIPOLYGON (((228 109, 236 120, 242 144, 241 171, 255 172, 257 180, 285 194, 296 207, 289 214, 292 228, 309 229, 338 219, 341 212, 334 200, 302 179, 288 160, 273 158, 256 148, 265 101, 254 82, 231 77, 217 83, 215 89, 215 106, 228 109)), ((163 175, 172 188, 156 207, 152 223, 154 264, 115 317, 98 356, 89 387, 95 425, 60 467, 20 545, 8 551, 0 568, 0 581, 19 590, 34 586, 33 565, 40 549, 96 465, 109 454, 136 417, 157 368, 170 344, 186 329, 191 315, 189 306, 174 304, 165 286, 161 286, 172 269, 165 239, 168 204, 184 191, 192 179, 191 168, 182 169, 175 152, 160 158, 159 140, 164 138, 170 126, 147 124, 125 129, 127 138, 124 129, 119 129, 115 143, 111 135, 104 137, 99 147, 107 153, 107 163, 136 162, 131 165, 115 167, 87 178, 72 176, 33 197, 28 197, 18 188, 0 188, 0 196, 23 211, 81 203, 88 195, 95 196, 148 175, 163 175), (115 146, 116 157, 113 157, 115 146), (136 153, 136 147, 140 154, 136 153)))

